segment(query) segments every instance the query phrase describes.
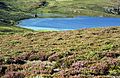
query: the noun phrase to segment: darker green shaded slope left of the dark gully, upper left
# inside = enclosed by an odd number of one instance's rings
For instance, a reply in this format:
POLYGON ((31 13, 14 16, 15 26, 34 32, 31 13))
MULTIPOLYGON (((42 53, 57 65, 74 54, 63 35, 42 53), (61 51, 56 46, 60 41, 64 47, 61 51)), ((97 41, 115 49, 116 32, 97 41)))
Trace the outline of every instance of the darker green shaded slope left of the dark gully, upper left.
MULTIPOLYGON (((32 18, 29 9, 33 8, 38 0, 0 0, 4 2, 8 8, 0 9, 0 19, 5 19, 7 24, 16 24, 17 21, 32 18)), ((0 23, 1 24, 1 23, 0 23)))

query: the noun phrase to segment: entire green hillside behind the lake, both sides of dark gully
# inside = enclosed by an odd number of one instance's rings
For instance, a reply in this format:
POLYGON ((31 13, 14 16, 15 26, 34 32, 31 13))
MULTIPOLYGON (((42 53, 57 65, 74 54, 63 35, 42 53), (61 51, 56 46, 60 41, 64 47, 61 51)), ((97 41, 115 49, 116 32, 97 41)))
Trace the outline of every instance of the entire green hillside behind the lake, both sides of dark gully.
POLYGON ((38 7, 39 0, 0 0, 7 5, 7 9, 0 9, 0 19, 7 20, 9 24, 25 18, 31 18, 31 13, 63 13, 68 16, 88 15, 88 16, 113 16, 104 12, 104 7, 113 6, 109 0, 73 0, 56 1, 47 0, 49 5, 38 7), (12 22, 11 22, 12 21, 12 22))

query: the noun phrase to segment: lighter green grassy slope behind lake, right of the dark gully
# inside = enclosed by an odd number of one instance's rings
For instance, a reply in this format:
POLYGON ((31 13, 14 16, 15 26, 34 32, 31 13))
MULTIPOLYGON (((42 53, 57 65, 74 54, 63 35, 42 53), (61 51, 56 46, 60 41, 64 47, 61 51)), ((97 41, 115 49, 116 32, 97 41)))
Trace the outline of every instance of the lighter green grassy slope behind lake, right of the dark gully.
POLYGON ((115 16, 104 12, 104 7, 114 6, 109 0, 48 0, 49 6, 37 12, 56 12, 67 15, 115 16))

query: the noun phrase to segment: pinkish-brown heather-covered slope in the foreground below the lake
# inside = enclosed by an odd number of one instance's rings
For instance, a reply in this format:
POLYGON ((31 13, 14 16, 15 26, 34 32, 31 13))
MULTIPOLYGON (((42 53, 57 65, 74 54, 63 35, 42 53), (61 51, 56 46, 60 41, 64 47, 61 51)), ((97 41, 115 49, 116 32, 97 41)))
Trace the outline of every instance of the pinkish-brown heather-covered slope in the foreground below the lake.
POLYGON ((0 53, 3 66, 27 78, 42 74, 55 78, 118 76, 120 27, 1 35, 0 53))

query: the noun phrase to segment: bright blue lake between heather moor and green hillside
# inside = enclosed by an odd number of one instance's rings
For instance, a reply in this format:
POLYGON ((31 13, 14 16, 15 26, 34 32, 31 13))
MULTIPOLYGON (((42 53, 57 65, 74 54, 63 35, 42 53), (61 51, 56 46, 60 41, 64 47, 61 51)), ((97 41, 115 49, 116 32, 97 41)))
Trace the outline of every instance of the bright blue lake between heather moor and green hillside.
POLYGON ((18 26, 33 30, 77 30, 83 28, 120 26, 120 18, 79 16, 74 18, 31 18, 18 26))

